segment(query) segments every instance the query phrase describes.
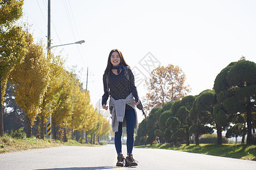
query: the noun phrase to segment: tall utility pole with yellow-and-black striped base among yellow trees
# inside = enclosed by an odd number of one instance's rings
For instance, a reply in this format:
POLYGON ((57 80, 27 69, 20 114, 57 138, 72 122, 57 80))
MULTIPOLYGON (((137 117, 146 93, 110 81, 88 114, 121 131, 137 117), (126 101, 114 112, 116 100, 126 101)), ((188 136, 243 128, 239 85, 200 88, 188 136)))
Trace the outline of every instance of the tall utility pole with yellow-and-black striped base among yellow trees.
MULTIPOLYGON (((47 36, 47 57, 51 55, 51 0, 48 0, 48 36, 47 36)), ((46 138, 52 139, 52 115, 50 114, 46 123, 46 138)))

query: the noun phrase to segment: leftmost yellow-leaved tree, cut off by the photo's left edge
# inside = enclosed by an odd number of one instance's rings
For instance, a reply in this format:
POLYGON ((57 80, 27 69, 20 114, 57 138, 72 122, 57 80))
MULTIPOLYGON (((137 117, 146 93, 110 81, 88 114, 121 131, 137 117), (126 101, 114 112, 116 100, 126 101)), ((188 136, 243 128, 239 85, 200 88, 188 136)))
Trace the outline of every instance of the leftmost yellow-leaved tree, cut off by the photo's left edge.
POLYGON ((0 0, 0 136, 3 135, 2 104, 7 78, 26 53, 23 28, 16 24, 22 16, 22 6, 23 1, 0 0))

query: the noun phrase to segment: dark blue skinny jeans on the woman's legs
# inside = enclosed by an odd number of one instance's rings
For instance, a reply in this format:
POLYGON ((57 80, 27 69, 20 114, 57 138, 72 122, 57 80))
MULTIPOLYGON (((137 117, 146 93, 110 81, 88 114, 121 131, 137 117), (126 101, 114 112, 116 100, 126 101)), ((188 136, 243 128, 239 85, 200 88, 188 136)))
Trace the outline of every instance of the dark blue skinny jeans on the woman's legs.
MULTIPOLYGON (((134 109, 125 110, 126 119, 126 132, 127 132, 127 155, 132 154, 134 145, 134 124, 135 124, 135 112, 134 109)), ((115 132, 115 150, 117 155, 122 154, 122 122, 119 122, 118 131, 115 132)))

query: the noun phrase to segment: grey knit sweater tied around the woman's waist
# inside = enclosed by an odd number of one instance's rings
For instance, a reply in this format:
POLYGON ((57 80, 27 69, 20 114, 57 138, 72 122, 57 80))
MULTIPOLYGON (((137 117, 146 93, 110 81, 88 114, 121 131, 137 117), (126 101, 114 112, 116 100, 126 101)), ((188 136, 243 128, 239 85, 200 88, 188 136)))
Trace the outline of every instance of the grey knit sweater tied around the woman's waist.
POLYGON ((133 94, 130 94, 126 97, 126 99, 119 99, 115 100, 113 97, 110 97, 109 106, 112 108, 112 130, 113 133, 118 131, 119 122, 123 122, 122 126, 126 127, 126 120, 125 120, 125 105, 129 105, 131 108, 134 109, 135 112, 135 124, 134 128, 138 129, 138 117, 136 112, 136 106, 134 104, 133 94))

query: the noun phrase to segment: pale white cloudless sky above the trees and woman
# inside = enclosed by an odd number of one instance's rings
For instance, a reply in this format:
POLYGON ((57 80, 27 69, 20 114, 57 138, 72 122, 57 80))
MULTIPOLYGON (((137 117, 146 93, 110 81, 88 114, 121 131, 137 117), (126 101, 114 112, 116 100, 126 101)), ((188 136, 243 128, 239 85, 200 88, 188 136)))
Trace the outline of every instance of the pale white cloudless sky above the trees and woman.
MULTIPOLYGON (((24 0, 22 19, 32 24, 35 40, 44 44, 47 6, 47 0, 24 0)), ((148 57, 157 61, 150 69, 168 64, 181 67, 191 87, 189 95, 197 95, 212 89, 217 74, 230 62, 242 56, 256 62, 255 8, 253 0, 54 0, 52 46, 79 40, 85 43, 61 46, 53 52, 67 58, 67 67, 76 65, 84 70, 79 73, 82 82, 86 82, 89 67, 88 90, 97 108, 103 95, 102 75, 114 48, 143 76, 137 87, 140 97, 146 94, 143 84, 148 70, 139 63, 150 62, 148 57)))

